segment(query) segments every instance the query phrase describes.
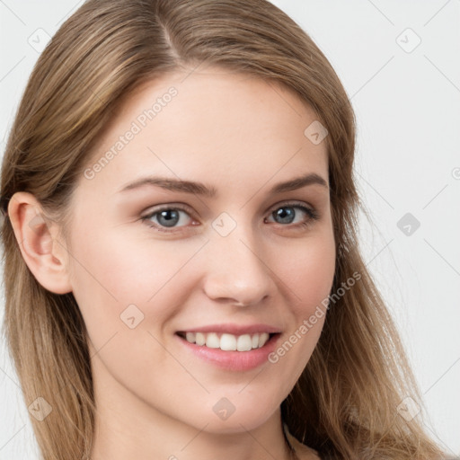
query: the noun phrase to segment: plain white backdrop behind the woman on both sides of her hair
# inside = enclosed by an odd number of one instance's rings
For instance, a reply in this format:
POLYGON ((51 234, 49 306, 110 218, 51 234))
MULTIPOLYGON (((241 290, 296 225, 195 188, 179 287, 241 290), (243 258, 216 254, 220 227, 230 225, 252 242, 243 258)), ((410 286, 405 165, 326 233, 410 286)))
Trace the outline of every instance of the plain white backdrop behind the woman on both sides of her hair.
MULTIPOLYGON (((356 176, 372 217, 361 225, 367 267, 402 333, 428 409, 427 429, 459 456, 460 1, 273 3, 311 35, 351 98, 356 176), (397 226, 406 213, 420 222, 410 235, 397 226)), ((43 42, 43 31, 52 36, 80 4, 0 1, 2 155, 39 56, 28 40, 43 42)), ((0 321, 3 314, 2 303, 0 321)), ((0 413, 0 459, 38 458, 3 341, 0 413)))

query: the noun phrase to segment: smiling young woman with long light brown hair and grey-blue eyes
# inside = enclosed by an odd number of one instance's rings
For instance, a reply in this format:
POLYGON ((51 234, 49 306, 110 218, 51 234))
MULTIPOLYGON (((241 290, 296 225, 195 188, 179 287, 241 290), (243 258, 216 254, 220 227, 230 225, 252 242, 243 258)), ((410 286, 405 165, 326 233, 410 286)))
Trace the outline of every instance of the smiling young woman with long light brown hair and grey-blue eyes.
POLYGON ((358 252, 355 128, 264 0, 90 0, 2 172, 5 331, 44 458, 442 458, 358 252))

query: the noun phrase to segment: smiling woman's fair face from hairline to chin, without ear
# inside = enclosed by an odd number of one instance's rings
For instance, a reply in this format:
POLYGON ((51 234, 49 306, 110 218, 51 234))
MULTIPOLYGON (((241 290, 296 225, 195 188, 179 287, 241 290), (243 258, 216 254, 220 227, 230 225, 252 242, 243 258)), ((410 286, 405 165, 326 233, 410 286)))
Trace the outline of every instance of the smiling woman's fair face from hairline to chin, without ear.
POLYGON ((236 432, 279 409, 323 328, 326 146, 279 85, 185 76, 139 86, 99 139, 73 196, 68 268, 96 398, 236 432))

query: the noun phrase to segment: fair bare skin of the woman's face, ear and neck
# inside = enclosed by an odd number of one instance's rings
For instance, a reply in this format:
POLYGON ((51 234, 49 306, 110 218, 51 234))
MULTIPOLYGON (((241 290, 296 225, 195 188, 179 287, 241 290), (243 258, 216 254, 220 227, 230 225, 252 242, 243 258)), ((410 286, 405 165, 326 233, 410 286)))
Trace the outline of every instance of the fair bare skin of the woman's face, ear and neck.
MULTIPOLYGON (((305 173, 327 182, 325 142, 305 137, 314 111, 278 84, 212 67, 187 75, 142 84, 123 103, 90 166, 152 101, 171 86, 178 91, 93 179, 82 175, 67 241, 58 223, 40 224, 43 210, 30 193, 16 193, 8 212, 36 279, 52 292, 73 292, 84 316, 99 409, 93 460, 288 459, 279 406, 324 317, 277 363, 248 371, 196 358, 174 334, 211 323, 269 323, 282 331, 282 344, 329 295, 335 250, 328 187, 269 194, 305 173), (118 192, 147 174, 204 182, 217 196, 157 186, 118 192), (319 218, 292 208, 293 200, 319 218), (140 220, 158 205, 180 203, 190 212, 181 212, 173 233, 152 226, 164 222, 158 215, 140 220), (272 215, 284 206, 295 213, 293 223, 272 215), (225 237, 212 226, 223 212, 236 224, 225 237), (133 329, 120 319, 132 304, 144 314, 133 329), (213 406, 224 397, 235 409, 221 420, 213 406)), ((317 458, 296 447, 299 458, 317 458)))

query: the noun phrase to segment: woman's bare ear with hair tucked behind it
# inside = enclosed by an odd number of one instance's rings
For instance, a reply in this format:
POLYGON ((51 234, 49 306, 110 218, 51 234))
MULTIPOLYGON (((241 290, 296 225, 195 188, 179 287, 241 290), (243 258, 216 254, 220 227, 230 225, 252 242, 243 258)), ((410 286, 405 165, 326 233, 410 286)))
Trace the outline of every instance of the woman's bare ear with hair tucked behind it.
POLYGON ((72 291, 66 247, 57 240, 57 222, 29 192, 18 191, 8 203, 8 217, 22 258, 43 288, 55 294, 72 291))

